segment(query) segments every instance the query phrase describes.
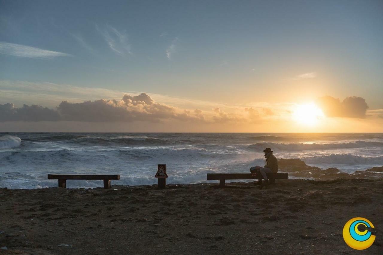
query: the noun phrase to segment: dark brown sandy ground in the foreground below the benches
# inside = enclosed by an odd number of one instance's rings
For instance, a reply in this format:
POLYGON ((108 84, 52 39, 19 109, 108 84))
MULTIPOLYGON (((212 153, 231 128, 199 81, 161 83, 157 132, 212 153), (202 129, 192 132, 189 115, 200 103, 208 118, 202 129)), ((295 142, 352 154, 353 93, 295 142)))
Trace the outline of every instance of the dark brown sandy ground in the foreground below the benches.
POLYGON ((216 185, 3 188, 0 254, 383 254, 383 179, 216 185), (343 240, 353 217, 367 250, 343 240))

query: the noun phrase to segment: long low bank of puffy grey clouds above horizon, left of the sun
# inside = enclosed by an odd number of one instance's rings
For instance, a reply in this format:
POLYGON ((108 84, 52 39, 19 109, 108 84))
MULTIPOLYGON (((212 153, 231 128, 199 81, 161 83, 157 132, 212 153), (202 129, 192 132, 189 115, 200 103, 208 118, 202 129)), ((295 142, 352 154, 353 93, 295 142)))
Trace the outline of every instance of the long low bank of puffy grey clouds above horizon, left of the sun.
POLYGON ((219 107, 212 111, 200 109, 187 110, 156 103, 146 93, 139 95, 124 94, 121 100, 100 99, 70 103, 62 101, 56 109, 39 105, 23 105, 16 108, 13 104, 0 105, 0 122, 5 121, 83 121, 83 122, 161 122, 173 119, 184 122, 200 123, 239 123, 254 122, 259 119, 254 108, 237 109, 237 113, 227 113, 219 107))

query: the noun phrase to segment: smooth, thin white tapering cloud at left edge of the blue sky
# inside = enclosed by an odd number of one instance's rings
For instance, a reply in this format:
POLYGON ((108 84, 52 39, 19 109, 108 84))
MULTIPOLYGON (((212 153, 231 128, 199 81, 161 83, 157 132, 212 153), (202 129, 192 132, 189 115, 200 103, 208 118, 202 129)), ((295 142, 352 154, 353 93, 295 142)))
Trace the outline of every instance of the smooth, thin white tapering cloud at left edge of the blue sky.
POLYGON ((44 49, 39 49, 36 47, 15 44, 15 43, 5 43, 0 42, 0 54, 7 54, 17 57, 29 57, 29 58, 39 58, 39 59, 49 59, 53 57, 69 57, 70 54, 57 51, 48 51, 44 49))

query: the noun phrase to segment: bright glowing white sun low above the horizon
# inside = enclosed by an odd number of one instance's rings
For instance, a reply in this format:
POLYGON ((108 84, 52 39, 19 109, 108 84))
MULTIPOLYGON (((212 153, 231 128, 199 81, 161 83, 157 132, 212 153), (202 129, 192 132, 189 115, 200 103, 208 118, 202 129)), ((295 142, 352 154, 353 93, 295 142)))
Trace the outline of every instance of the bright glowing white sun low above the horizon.
POLYGON ((305 126, 316 126, 323 117, 321 108, 314 103, 297 105, 293 113, 293 119, 296 123, 305 126))

